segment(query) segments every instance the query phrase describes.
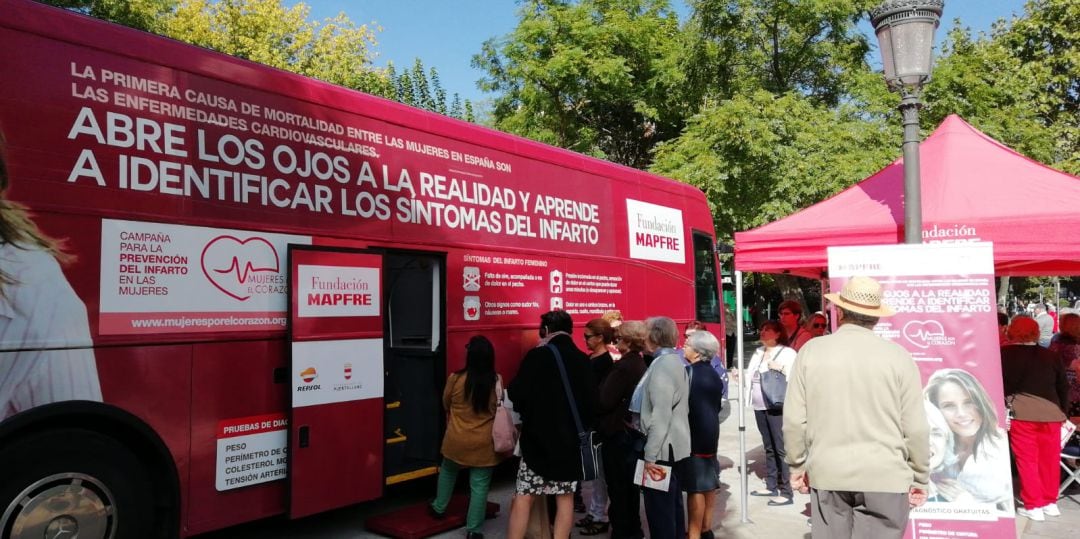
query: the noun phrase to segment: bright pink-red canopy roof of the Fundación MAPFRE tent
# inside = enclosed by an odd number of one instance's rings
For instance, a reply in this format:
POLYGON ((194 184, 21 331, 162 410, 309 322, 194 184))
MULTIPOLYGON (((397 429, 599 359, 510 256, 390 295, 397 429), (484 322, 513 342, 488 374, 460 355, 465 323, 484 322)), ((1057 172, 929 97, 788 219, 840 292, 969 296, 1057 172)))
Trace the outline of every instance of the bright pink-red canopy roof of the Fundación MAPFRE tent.
MULTIPOLYGON (((924 242, 990 241, 999 275, 1080 274, 1080 178, 949 116, 920 145, 924 242)), ((821 278, 825 250, 902 243, 897 159, 835 197, 735 233, 735 269, 821 278)))

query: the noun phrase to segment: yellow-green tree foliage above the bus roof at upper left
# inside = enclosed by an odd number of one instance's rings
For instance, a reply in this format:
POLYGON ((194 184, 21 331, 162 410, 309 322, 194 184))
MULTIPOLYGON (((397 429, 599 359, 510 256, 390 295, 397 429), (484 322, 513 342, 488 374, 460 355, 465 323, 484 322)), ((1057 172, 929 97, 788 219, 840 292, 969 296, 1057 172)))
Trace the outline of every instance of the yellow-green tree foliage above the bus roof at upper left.
POLYGON ((435 68, 419 58, 397 75, 375 66, 376 25, 357 25, 343 13, 311 18, 303 2, 283 0, 45 0, 91 16, 161 33, 232 56, 475 121, 471 105, 447 107, 435 68), (429 81, 430 77, 430 81, 429 81))

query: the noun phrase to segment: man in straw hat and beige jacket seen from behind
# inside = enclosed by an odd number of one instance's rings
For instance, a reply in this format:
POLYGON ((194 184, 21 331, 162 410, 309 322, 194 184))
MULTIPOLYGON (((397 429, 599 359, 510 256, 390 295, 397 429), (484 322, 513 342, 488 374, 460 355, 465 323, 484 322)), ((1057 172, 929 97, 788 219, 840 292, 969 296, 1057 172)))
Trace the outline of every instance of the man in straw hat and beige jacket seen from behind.
POLYGON ((873 331, 893 314, 877 281, 854 277, 825 297, 840 327, 799 350, 784 402, 792 486, 810 494, 815 539, 901 539, 930 473, 919 369, 873 331))

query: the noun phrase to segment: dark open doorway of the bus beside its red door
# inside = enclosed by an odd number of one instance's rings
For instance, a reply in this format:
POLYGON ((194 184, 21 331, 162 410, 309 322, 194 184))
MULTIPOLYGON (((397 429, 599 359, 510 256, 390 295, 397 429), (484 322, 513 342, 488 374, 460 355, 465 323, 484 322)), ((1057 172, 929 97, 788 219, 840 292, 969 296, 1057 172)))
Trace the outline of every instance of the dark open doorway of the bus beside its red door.
POLYGON ((388 485, 438 471, 443 440, 444 256, 383 253, 386 291, 386 442, 388 485))

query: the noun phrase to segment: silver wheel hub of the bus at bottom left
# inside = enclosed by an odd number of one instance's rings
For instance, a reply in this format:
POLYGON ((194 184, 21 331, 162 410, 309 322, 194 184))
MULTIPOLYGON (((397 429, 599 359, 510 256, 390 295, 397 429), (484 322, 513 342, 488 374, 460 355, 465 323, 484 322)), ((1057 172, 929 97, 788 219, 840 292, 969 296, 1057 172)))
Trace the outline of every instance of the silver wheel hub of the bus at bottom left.
POLYGON ((111 539, 116 501, 96 479, 50 475, 24 489, 4 510, 0 530, 12 539, 111 539))

